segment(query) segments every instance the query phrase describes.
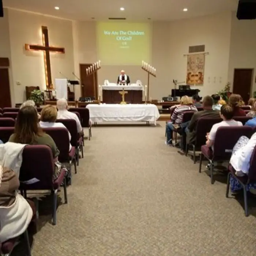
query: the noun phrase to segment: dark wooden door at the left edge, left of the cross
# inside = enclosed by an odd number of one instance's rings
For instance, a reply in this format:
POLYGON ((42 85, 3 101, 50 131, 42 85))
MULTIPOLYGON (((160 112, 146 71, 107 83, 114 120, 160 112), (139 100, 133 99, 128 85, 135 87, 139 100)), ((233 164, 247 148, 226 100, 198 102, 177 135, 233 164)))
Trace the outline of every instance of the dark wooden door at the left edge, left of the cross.
POLYGON ((11 93, 8 68, 0 68, 0 108, 11 107, 11 93))

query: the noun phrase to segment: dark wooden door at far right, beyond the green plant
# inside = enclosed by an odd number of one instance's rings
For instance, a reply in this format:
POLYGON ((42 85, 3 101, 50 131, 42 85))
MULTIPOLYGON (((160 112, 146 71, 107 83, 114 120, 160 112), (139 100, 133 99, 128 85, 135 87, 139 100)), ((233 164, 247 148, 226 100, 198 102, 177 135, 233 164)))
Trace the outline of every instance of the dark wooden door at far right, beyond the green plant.
POLYGON ((240 94, 247 104, 251 94, 253 69, 235 68, 233 93, 240 94))

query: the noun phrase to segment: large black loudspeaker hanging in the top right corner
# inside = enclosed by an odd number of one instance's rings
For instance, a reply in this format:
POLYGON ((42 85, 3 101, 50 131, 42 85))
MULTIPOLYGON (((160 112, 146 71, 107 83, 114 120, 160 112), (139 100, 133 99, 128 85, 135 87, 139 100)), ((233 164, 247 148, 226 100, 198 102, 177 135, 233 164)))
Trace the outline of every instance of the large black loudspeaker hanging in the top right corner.
POLYGON ((237 19, 256 19, 256 0, 239 0, 237 19))

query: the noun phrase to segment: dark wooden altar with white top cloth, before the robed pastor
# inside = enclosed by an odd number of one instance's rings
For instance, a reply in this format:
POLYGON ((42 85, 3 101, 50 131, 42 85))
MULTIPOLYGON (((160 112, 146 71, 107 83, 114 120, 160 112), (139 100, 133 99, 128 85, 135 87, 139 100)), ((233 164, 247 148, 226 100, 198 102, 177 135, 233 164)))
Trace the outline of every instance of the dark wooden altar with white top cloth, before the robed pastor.
POLYGON ((120 91, 124 88, 128 93, 125 94, 125 102, 127 103, 142 103, 142 96, 144 87, 131 84, 131 85, 118 85, 118 84, 108 84, 102 85, 102 102, 104 103, 120 103, 122 101, 122 96, 120 91))

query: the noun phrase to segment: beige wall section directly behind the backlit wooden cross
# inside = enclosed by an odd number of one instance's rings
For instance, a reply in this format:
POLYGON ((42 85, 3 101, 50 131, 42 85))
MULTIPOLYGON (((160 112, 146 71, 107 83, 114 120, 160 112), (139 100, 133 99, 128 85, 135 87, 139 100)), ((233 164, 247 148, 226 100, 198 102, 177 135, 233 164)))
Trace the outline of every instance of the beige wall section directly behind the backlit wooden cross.
POLYGON ((65 54, 50 54, 53 84, 55 78, 61 77, 59 72, 72 77, 74 52, 71 21, 16 10, 9 10, 8 20, 15 103, 25 100, 25 86, 46 88, 43 53, 25 50, 26 43, 42 45, 41 26, 48 27, 50 45, 65 48, 65 54))

